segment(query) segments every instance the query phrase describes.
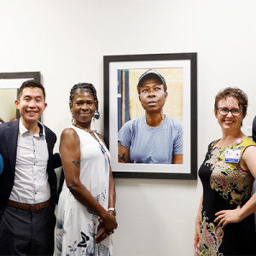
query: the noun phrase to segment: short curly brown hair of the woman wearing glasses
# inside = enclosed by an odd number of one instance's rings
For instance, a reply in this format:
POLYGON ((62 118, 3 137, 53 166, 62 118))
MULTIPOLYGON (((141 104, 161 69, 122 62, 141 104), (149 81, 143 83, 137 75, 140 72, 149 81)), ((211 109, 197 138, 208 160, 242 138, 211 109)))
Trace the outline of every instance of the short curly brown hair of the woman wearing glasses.
MULTIPOLYGON (((227 97, 233 97, 236 98, 238 101, 239 108, 242 109, 242 115, 245 117, 247 114, 247 107, 248 107, 248 98, 247 94, 237 88, 237 87, 227 87, 224 90, 218 91, 218 95, 215 96, 215 103, 214 103, 214 108, 215 111, 218 111, 218 102, 222 99, 226 99, 227 97)), ((241 121, 242 125, 242 121, 241 121)))

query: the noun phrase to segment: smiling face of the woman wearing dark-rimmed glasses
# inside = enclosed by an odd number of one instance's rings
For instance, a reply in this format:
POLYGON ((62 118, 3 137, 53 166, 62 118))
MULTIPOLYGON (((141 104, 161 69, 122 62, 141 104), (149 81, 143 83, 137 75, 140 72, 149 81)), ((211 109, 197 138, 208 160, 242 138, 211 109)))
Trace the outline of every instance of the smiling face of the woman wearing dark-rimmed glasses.
POLYGON ((239 107, 239 102, 236 98, 230 96, 226 99, 221 99, 218 102, 218 108, 223 108, 226 111, 229 109, 233 109, 234 112, 234 114, 232 114, 229 111, 226 115, 221 115, 219 113, 219 111, 222 111, 221 109, 218 111, 214 109, 215 117, 218 119, 218 124, 220 125, 222 130, 231 131, 241 128, 241 121, 245 118, 246 113, 239 113, 239 108, 241 108, 241 106, 239 107))

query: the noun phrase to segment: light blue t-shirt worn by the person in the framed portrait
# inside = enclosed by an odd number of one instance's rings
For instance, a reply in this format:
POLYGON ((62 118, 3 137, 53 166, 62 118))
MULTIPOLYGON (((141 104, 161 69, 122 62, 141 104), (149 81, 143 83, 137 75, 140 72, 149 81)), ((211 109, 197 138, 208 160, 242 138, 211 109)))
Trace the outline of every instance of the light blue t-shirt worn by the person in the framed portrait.
POLYGON ((166 116, 160 126, 150 127, 143 115, 126 122, 118 139, 130 150, 131 163, 172 164, 173 154, 183 154, 183 123, 166 116))

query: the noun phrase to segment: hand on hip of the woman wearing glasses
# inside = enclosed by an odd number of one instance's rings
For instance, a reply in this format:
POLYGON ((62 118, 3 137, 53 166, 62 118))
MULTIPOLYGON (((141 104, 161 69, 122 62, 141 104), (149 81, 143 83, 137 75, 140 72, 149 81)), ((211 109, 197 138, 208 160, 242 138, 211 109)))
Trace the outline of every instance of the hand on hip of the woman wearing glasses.
POLYGON ((215 213, 217 218, 214 219, 214 222, 218 222, 218 227, 221 226, 224 228, 229 223, 238 223, 241 222, 241 202, 238 204, 235 210, 225 210, 215 213))

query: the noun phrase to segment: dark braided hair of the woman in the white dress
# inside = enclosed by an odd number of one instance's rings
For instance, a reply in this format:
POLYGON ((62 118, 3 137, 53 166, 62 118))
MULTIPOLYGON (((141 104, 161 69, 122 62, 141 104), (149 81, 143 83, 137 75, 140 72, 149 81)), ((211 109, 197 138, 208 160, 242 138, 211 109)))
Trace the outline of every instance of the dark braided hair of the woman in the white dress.
POLYGON ((99 119, 100 118, 99 101, 98 101, 96 89, 93 86, 93 84, 89 84, 89 83, 74 84, 72 89, 70 90, 70 96, 69 96, 70 106, 73 107, 73 98, 74 98, 74 96, 78 95, 81 91, 86 91, 88 93, 91 93, 92 96, 94 97, 94 102, 95 102, 95 106, 96 106, 94 117, 96 119, 99 119))

